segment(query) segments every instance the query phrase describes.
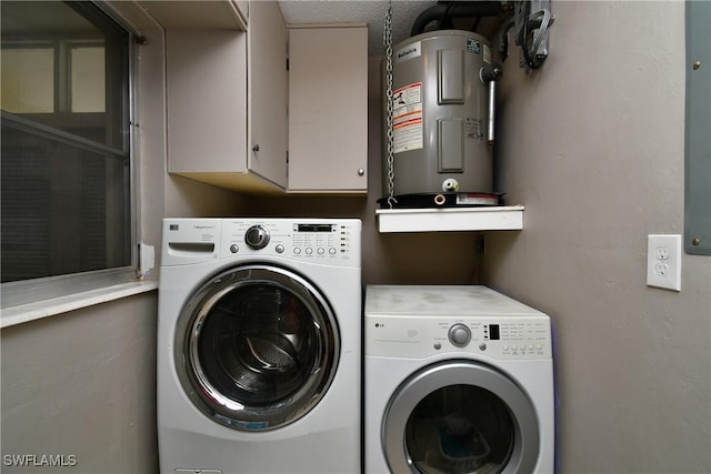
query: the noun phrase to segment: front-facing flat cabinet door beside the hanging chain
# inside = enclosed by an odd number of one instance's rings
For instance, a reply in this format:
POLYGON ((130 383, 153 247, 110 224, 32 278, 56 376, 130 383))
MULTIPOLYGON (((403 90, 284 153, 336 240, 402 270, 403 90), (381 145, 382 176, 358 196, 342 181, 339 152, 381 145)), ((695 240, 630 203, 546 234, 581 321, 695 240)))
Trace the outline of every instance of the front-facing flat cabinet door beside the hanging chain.
POLYGON ((368 190, 368 28, 289 31, 289 191, 368 190))

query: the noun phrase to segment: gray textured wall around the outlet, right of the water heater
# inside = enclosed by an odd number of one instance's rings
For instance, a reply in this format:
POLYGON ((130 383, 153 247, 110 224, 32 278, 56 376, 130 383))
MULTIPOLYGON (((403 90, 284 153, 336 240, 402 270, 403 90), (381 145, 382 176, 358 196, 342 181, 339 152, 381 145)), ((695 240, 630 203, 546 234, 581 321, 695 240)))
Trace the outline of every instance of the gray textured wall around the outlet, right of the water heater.
POLYGON ((647 234, 683 232, 684 3, 553 2, 550 58, 505 63, 498 185, 524 230, 483 282, 549 312, 562 472, 711 472, 711 259, 645 285, 647 234))

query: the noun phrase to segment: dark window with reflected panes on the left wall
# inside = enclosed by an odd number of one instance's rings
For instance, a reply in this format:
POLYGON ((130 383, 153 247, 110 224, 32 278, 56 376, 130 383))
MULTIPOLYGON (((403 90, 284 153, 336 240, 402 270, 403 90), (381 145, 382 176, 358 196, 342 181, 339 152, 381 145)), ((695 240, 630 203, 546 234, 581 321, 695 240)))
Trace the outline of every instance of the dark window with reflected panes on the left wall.
POLYGON ((77 274, 126 281, 136 264, 132 36, 93 2, 0 8, 3 305, 18 282, 61 293, 66 275, 70 292, 77 274))

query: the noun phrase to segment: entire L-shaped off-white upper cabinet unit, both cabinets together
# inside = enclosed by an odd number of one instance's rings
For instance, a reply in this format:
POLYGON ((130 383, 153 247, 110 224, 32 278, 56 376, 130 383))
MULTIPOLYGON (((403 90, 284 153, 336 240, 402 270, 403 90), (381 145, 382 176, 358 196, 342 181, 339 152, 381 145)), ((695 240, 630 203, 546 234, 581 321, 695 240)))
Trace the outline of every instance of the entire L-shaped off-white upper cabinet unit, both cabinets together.
POLYGON ((365 26, 288 29, 276 1, 141 6, 166 27, 170 173, 246 193, 367 192, 365 26))

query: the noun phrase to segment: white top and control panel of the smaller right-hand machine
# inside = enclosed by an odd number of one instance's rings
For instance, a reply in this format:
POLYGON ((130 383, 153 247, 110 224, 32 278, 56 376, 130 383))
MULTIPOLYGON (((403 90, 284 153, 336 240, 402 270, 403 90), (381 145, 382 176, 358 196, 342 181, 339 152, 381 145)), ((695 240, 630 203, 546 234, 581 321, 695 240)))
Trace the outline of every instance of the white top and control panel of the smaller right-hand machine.
POLYGON ((550 317, 482 285, 368 285, 365 355, 551 359, 550 317))

